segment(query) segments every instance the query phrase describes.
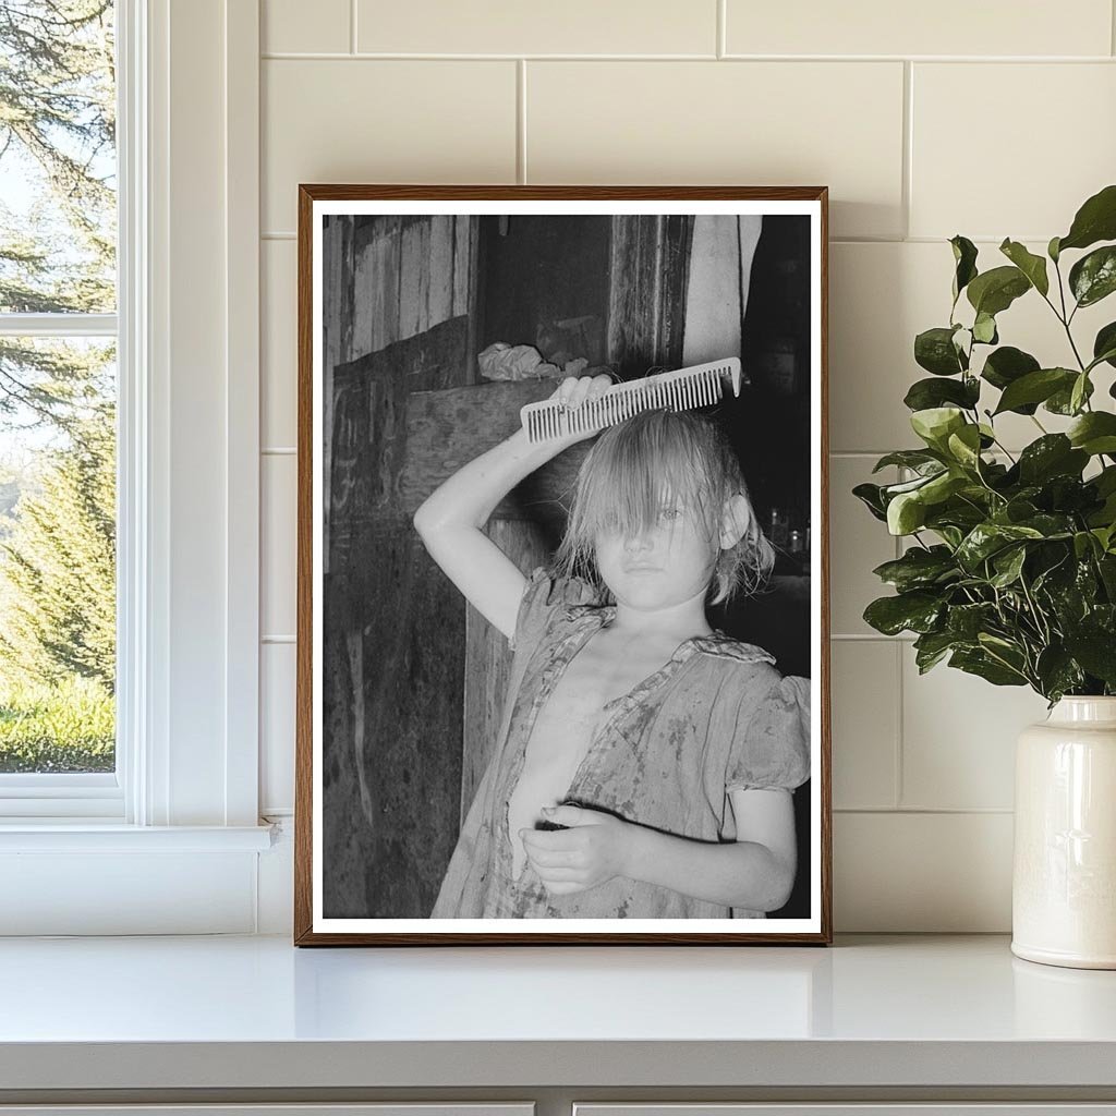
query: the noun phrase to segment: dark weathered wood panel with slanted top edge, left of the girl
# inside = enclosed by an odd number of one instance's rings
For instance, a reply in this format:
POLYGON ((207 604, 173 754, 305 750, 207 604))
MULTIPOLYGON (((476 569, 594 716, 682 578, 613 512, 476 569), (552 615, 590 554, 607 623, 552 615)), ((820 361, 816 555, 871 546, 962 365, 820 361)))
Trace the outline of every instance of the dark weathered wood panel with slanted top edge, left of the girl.
POLYGON ((463 317, 335 372, 324 586, 323 899, 328 917, 424 917, 456 840, 464 602, 396 492, 406 396, 460 381, 463 317))

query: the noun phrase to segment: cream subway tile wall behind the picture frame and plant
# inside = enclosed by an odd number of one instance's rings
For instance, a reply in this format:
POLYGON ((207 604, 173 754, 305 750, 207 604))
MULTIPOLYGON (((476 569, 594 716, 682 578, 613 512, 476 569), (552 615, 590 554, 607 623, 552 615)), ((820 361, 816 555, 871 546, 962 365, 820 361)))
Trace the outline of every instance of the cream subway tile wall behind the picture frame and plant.
MULTIPOLYGON (((864 623, 897 551, 849 490, 914 443, 902 397, 914 335, 947 321, 946 239, 982 267, 1006 235, 1040 250, 1116 179, 1112 0, 262 3, 264 806, 294 804, 296 460, 276 451, 296 437, 298 183, 826 184, 835 924, 1010 929, 1012 748, 1045 703, 920 676, 910 641, 864 623)), ((1069 358, 1037 298, 1000 333, 1069 358)), ((1008 448, 1032 432, 1006 424, 1008 448)))

